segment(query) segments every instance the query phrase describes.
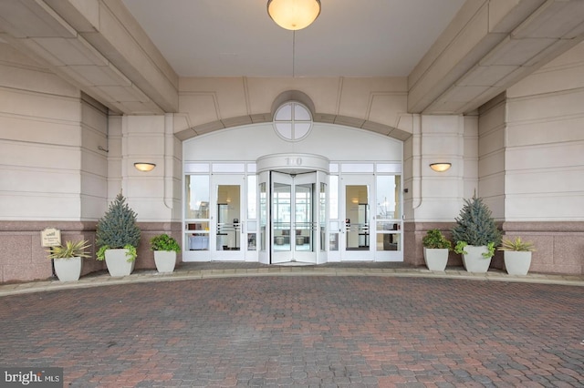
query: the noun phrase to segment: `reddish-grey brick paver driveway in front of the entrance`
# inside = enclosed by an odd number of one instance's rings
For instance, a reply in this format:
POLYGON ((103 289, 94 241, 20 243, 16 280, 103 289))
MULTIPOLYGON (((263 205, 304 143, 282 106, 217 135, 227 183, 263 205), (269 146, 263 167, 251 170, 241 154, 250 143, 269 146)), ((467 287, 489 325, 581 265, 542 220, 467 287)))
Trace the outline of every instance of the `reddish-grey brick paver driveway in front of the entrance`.
POLYGON ((584 289, 396 277, 0 298, 0 365, 65 386, 584 386, 584 289))

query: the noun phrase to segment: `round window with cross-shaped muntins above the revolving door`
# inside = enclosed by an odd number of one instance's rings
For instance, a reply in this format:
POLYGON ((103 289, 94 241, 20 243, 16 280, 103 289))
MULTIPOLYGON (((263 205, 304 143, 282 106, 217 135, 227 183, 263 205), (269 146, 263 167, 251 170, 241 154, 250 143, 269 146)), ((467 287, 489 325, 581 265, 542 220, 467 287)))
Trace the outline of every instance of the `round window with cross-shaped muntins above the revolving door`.
POLYGON ((306 138, 312 128, 312 115, 307 107, 290 101, 278 107, 274 115, 274 128, 280 138, 298 141, 306 138))

